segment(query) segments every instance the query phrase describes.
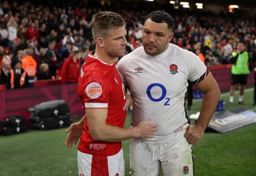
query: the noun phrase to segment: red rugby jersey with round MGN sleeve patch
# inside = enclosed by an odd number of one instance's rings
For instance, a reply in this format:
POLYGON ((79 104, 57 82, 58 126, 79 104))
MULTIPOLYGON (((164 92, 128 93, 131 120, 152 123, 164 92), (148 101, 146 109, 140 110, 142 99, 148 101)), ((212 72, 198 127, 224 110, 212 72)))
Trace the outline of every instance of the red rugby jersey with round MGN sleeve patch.
MULTIPOLYGON (((125 89, 115 63, 109 65, 92 54, 88 54, 81 68, 77 92, 85 113, 86 108, 108 108, 106 124, 124 127, 126 117, 125 89)), ((112 156, 117 154, 121 148, 121 141, 94 141, 86 120, 83 135, 78 145, 80 152, 112 156)))

